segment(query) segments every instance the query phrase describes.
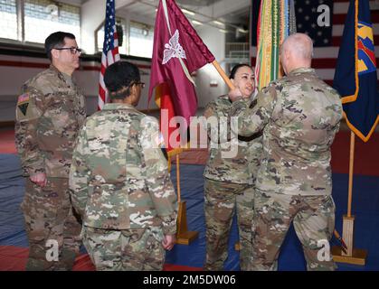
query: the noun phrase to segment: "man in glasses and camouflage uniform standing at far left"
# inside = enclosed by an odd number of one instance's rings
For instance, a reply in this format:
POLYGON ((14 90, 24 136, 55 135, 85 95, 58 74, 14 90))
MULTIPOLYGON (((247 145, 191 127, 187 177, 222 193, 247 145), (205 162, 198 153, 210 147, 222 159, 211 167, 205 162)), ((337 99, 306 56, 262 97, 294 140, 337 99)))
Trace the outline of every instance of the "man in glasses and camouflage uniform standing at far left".
POLYGON ((52 33, 45 49, 52 65, 24 84, 15 112, 15 144, 27 177, 26 269, 71 270, 81 224, 72 212, 68 178, 73 144, 86 117, 71 74, 80 65, 81 50, 74 35, 62 32, 52 33))

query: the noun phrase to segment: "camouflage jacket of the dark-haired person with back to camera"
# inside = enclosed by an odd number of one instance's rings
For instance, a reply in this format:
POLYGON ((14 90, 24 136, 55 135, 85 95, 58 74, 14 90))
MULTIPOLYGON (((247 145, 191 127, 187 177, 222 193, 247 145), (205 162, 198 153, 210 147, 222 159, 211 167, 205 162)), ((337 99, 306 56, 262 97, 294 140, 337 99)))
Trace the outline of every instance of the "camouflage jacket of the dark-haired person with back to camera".
POLYGON ((106 104, 75 145, 71 201, 92 228, 163 228, 175 234, 177 204, 154 117, 106 104))

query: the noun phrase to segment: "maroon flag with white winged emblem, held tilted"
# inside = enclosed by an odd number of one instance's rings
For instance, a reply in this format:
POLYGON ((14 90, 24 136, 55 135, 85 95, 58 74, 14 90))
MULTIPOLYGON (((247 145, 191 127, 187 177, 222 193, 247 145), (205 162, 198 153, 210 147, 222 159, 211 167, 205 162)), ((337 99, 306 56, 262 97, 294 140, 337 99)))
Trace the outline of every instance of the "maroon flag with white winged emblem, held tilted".
POLYGON ((171 90, 175 115, 185 117, 189 126, 197 108, 191 73, 214 61, 194 27, 173 0, 161 0, 156 12, 154 48, 148 100, 159 83, 171 90))

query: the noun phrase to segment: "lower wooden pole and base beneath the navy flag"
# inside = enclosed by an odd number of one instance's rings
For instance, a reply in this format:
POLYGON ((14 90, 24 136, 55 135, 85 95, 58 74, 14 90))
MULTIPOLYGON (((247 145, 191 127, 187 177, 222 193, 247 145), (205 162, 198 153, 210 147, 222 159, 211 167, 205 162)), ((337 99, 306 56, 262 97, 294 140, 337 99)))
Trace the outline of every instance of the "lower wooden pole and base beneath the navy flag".
POLYGON ((346 243, 346 252, 341 247, 332 247, 333 259, 336 262, 355 265, 365 265, 367 251, 354 248, 354 220, 351 214, 353 200, 353 176, 354 176, 355 134, 350 133, 350 161, 349 161, 349 185, 347 197, 347 215, 343 217, 342 238, 346 243))

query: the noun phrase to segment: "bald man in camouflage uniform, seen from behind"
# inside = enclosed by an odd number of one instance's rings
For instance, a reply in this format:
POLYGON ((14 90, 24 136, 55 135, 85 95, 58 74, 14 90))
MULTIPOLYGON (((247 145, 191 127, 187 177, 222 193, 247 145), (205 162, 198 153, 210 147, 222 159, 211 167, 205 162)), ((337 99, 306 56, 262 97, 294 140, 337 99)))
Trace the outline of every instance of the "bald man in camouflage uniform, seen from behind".
POLYGON ((342 117, 335 89, 310 68, 313 44, 306 34, 289 36, 280 51, 286 77, 270 82, 249 108, 234 100, 238 132, 263 129, 263 154, 255 195, 252 269, 276 269, 280 246, 293 221, 308 270, 334 270, 328 251, 335 222, 330 146, 342 117))

